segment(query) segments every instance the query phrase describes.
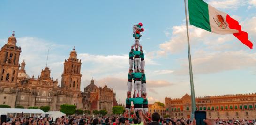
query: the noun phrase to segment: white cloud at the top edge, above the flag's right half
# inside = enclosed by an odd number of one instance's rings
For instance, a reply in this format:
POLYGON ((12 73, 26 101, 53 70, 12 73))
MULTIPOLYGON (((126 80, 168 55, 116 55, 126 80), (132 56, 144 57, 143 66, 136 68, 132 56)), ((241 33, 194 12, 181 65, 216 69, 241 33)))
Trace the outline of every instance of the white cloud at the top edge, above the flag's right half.
POLYGON ((210 0, 208 4, 212 7, 220 9, 238 9, 245 6, 248 0, 210 0))

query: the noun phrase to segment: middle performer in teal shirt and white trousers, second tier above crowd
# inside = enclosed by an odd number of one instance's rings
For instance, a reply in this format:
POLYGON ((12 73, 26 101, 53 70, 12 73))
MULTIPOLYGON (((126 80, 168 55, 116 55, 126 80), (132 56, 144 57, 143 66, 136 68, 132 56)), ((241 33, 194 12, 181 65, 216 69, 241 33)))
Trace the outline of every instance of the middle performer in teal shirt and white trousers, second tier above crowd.
POLYGON ((134 80, 134 94, 135 98, 136 97, 141 97, 141 78, 142 78, 142 73, 137 72, 136 73, 131 73, 133 80, 134 80))

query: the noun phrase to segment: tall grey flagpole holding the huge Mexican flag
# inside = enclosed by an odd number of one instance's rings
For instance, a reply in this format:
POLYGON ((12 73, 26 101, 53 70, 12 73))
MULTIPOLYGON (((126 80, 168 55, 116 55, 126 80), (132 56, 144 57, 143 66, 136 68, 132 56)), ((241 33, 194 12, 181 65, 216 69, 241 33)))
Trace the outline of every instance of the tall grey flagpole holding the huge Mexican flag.
POLYGON ((191 112, 191 115, 190 115, 190 121, 192 121, 194 119, 194 114, 195 114, 195 110, 196 110, 196 98, 195 98, 195 90, 194 90, 194 82, 193 82, 193 72, 192 72, 192 63, 191 63, 191 55, 190 55, 190 44, 189 44, 189 35, 188 35, 188 17, 187 17, 186 0, 184 0, 184 4, 185 4, 187 38, 188 38, 188 63, 189 63, 189 77, 190 77, 191 101, 192 101, 192 112, 191 112))

